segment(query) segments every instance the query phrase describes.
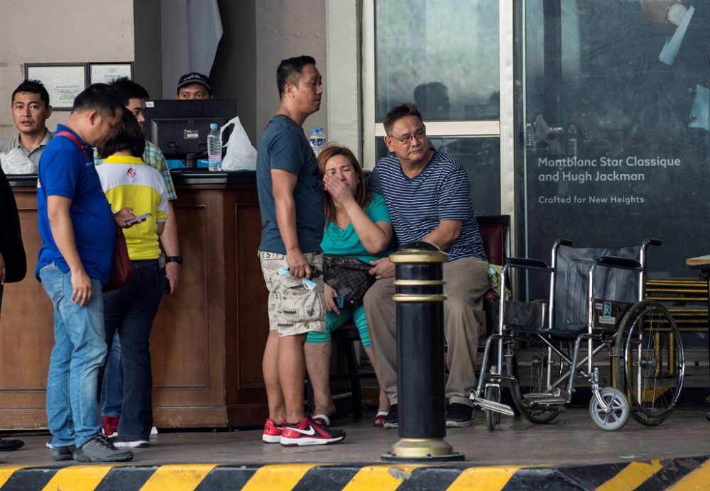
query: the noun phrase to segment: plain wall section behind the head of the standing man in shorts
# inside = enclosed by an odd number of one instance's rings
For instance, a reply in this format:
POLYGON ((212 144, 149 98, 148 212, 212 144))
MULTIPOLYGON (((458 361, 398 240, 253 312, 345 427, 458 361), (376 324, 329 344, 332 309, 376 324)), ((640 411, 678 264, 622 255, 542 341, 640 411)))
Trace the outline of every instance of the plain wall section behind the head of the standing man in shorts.
MULTIPOLYGON (((328 91, 326 59, 325 0, 258 0, 256 1, 256 129, 263 128, 278 111, 276 68, 285 58, 310 55, 323 75, 328 91)), ((306 135, 312 128, 327 128, 327 95, 320 111, 304 123, 306 135)), ((327 130, 326 130, 327 131, 327 130)))

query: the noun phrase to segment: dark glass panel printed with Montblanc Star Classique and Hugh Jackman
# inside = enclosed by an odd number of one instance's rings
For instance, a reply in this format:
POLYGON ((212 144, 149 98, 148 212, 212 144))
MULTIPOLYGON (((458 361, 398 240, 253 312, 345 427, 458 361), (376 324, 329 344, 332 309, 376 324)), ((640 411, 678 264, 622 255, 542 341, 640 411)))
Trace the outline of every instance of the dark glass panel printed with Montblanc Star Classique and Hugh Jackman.
POLYGON ((710 4, 518 5, 523 250, 547 259, 555 238, 611 246, 653 237, 663 245, 648 252, 650 275, 696 275, 685 258, 710 252, 710 4))

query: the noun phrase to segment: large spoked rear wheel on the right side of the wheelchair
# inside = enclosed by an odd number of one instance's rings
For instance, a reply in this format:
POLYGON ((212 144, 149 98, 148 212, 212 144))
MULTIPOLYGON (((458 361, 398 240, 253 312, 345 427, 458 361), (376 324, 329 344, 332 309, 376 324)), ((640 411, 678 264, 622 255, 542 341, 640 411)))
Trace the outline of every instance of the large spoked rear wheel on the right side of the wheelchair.
POLYGON ((647 426, 664 421, 678 402, 685 373, 683 344, 672 316, 657 302, 635 304, 623 316, 614 353, 619 388, 628 395, 633 418, 647 426))

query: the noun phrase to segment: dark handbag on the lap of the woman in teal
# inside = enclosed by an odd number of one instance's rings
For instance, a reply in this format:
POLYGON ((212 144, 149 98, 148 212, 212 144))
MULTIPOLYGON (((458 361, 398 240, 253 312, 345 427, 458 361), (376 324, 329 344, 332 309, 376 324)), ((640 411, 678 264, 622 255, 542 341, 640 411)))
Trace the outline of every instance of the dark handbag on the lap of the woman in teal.
POLYGON ((359 259, 342 255, 323 255, 323 281, 343 297, 343 304, 355 307, 362 304, 362 297, 375 282, 369 273, 372 265, 359 259))

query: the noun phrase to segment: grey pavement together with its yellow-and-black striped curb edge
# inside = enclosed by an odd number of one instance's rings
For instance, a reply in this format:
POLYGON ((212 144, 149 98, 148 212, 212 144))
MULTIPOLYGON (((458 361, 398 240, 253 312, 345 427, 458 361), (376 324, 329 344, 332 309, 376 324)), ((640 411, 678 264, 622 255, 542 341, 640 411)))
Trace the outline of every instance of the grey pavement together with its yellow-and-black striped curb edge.
POLYGON ((24 434, 23 448, 0 453, 0 490, 710 490, 708 409, 683 404, 658 426, 630 419, 616 432, 597 429, 584 406, 545 425, 501 416, 495 431, 477 411, 472 426, 449 429, 445 438, 465 460, 435 465, 381 460, 400 437, 371 426, 370 412, 360 421, 334 420, 347 433, 337 445, 265 444, 261 429, 160 431, 119 465, 55 463, 48 436, 24 434))

